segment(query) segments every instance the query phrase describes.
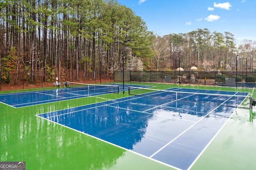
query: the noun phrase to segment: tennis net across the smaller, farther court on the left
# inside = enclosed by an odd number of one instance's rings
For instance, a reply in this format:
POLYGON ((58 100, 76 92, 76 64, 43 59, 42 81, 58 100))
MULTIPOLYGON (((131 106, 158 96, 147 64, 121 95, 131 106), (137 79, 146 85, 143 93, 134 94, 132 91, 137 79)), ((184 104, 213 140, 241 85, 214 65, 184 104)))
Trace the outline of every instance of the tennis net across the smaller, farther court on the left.
POLYGON ((106 93, 119 93, 118 85, 109 84, 84 84, 77 82, 66 82, 66 87, 74 88, 76 91, 80 90, 90 90, 96 92, 106 92, 106 93))

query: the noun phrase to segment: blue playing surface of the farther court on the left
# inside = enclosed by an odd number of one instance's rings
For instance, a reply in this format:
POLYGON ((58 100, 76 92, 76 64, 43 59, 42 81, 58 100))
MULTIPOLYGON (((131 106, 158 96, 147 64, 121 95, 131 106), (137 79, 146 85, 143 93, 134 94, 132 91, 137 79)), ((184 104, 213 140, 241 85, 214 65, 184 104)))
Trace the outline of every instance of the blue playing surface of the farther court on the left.
MULTIPOLYGON (((120 91, 123 90, 121 84, 108 84, 119 86, 120 91)), ((128 90, 128 86, 125 84, 124 90, 128 90)), ((149 87, 149 86, 140 86, 133 85, 137 87, 149 87)), ((107 94, 108 92, 101 91, 100 89, 104 86, 99 86, 98 90, 96 89, 82 89, 82 88, 56 88, 52 90, 41 90, 33 92, 21 92, 21 93, 12 93, 12 94, 0 94, 0 102, 12 107, 25 107, 32 106, 37 104, 45 104, 50 102, 58 102, 62 100, 70 100, 76 98, 84 98, 89 96, 97 96, 102 94, 107 94)), ((113 92, 118 92, 116 88, 113 89, 113 92)))

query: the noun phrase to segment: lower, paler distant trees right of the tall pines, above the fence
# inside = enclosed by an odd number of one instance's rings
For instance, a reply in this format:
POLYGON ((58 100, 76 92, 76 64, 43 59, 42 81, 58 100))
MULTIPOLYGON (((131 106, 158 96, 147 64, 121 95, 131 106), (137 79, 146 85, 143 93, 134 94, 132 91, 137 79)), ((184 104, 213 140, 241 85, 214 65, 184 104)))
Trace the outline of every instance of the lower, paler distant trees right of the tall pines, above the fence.
POLYGON ((256 41, 237 42, 230 32, 210 32, 204 28, 183 34, 156 35, 150 47, 154 52, 151 68, 155 70, 176 70, 179 57, 174 51, 182 51, 180 66, 186 70, 192 66, 200 70, 256 70, 256 41))

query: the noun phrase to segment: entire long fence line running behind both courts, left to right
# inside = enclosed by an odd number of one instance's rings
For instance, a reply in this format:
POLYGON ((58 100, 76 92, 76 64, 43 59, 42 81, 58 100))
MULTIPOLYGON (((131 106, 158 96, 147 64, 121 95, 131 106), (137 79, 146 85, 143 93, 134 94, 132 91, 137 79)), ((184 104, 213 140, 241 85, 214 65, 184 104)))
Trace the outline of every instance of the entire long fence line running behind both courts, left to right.
MULTIPOLYGON (((37 84, 37 87, 44 86, 44 72, 36 71, 34 75, 28 71, 0 71, 0 91, 1 87, 8 85, 19 86, 20 89, 33 88, 29 84, 37 84), (6 82, 6 80, 8 80, 6 82), (38 86, 38 84, 40 86, 38 86)), ((50 82, 56 81, 57 73, 52 77, 50 82)), ((49 73, 46 73, 46 80, 49 73)), ((125 71, 125 82, 151 82, 151 83, 172 83, 172 84, 194 84, 194 85, 211 85, 211 86, 234 86, 242 88, 256 87, 256 82, 248 82, 247 76, 256 77, 256 72, 246 71, 204 71, 204 70, 186 70, 186 71, 125 71), (237 77, 237 78, 236 78, 237 77), (235 79, 235 80, 234 80, 235 79), (228 81, 227 81, 228 80, 228 81), (247 80, 247 81, 246 81, 247 80)), ((102 70, 97 72, 96 79, 92 78, 92 73, 85 75, 84 70, 78 71, 78 81, 81 83, 96 83, 123 81, 123 72, 107 72, 102 70)), ((76 81, 76 70, 68 70, 59 74, 59 82, 76 81)))

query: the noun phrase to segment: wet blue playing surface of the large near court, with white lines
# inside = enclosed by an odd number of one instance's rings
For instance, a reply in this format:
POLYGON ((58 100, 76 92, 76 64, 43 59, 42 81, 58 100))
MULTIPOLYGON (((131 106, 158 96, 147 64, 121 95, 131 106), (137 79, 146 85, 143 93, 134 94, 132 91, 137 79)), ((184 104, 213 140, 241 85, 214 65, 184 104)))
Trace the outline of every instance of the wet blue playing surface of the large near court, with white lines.
POLYGON ((146 97, 130 96, 36 116, 172 168, 189 169, 236 110, 231 104, 239 106, 246 100, 242 96, 248 95, 214 90, 196 92, 204 95, 187 94, 179 100, 168 100, 170 94, 161 94, 162 97, 154 94, 157 96, 154 98, 148 97, 151 95, 148 93, 146 97), (191 102, 193 99, 204 102, 191 102))

